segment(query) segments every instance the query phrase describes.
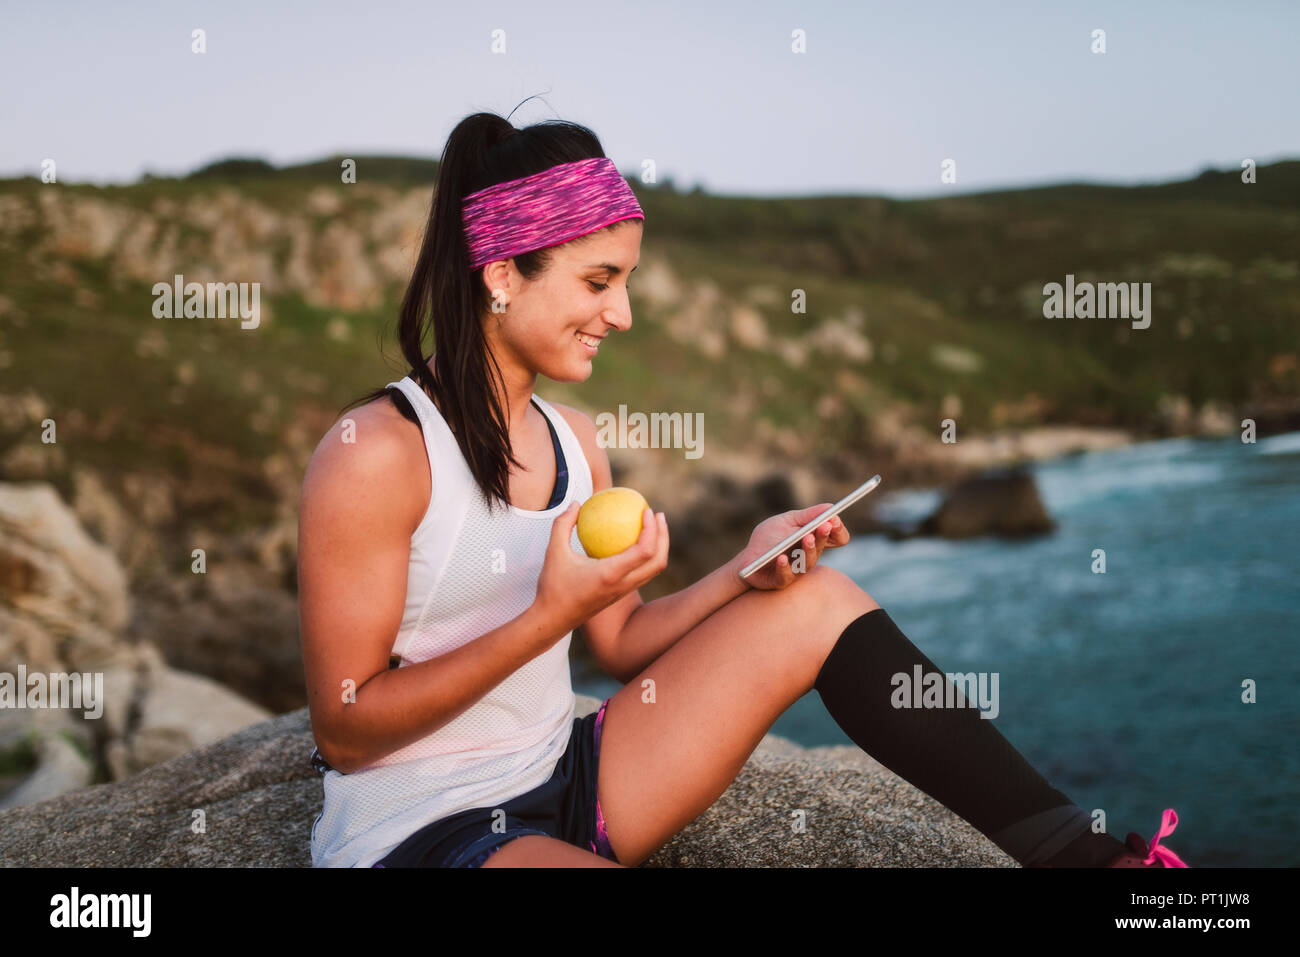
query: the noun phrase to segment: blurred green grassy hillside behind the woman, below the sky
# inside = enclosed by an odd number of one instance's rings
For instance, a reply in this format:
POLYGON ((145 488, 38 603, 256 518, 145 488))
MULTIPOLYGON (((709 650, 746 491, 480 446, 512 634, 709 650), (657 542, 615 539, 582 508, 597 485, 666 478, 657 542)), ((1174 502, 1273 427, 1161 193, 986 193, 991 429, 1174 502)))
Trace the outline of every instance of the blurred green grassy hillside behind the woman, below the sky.
MULTIPOLYGON (((186 181, 57 189, 151 209, 161 198, 233 186, 287 213, 303 208, 308 191, 337 182, 337 168, 335 160, 270 172, 217 168, 186 181)), ((394 185, 424 182, 432 169, 402 159, 363 164, 373 179, 394 185)), ((8 181, 0 195, 35 203, 42 189, 51 187, 8 181)), ((725 360, 715 361, 668 338, 664 316, 642 304, 632 330, 602 350, 586 384, 540 387, 558 400, 705 411, 707 441, 737 445, 751 441, 757 415, 806 430, 833 450, 862 441, 884 406, 902 404, 937 428, 949 394, 962 400, 963 426, 976 430, 992 424, 997 403, 1031 394, 1043 399, 1048 421, 1139 428, 1153 421, 1166 393, 1197 404, 1300 394, 1294 371, 1270 372, 1275 356, 1296 351, 1300 163, 1261 169, 1254 186, 1230 172, 1157 187, 1061 186, 913 202, 638 195, 647 215, 646 252, 667 257, 685 283, 716 283, 728 307, 755 285, 771 287, 777 303, 805 289, 805 316, 780 304, 759 309, 775 337, 800 339, 823 319, 861 309, 875 358, 853 363, 812 352, 803 368, 790 368, 732 342, 725 360), (1150 329, 1044 320, 1041 286, 1067 272, 1078 280, 1153 282, 1150 329), (982 367, 950 371, 936 361, 937 345, 970 350, 982 367), (844 413, 818 423, 812 410, 820 397, 840 391, 838 371, 853 372, 864 387, 844 395, 844 413), (736 411, 737 397, 746 395, 757 412, 736 411)), ((355 195, 339 217, 355 218, 373 203, 355 195)), ((202 243, 199 230, 178 226, 202 243)), ((52 280, 52 264, 23 254, 39 229, 0 247, 0 290, 27 315, 21 325, 0 317, 0 348, 10 355, 0 393, 30 389, 44 397, 60 420, 61 445, 78 463, 178 477, 191 519, 214 527, 265 520, 273 495, 261 463, 303 403, 332 419, 348 399, 400 374, 374 345, 386 330, 386 350, 396 354, 391 332, 400 289, 389 290, 378 308, 344 316, 354 330, 346 342, 324 334, 338 309, 264 296, 274 321, 263 334, 173 320, 166 355, 142 356, 147 324, 166 321, 152 319, 147 285, 113 276, 107 260, 72 257, 60 267, 70 272, 52 280), (194 367, 191 385, 178 378, 185 361, 194 367)), ((287 248, 276 252, 282 260, 287 248)), ((727 328, 722 309, 706 321, 727 328)), ((30 441, 30 433, 0 429, 0 454, 18 441, 30 441)), ((52 477, 68 490, 66 471, 52 477)))

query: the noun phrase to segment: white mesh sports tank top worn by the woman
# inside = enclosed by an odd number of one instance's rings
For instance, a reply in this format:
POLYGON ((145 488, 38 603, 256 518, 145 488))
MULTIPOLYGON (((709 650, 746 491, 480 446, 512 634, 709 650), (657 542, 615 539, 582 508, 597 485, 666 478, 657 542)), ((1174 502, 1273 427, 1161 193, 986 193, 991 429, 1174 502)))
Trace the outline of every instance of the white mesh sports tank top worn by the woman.
MULTIPOLYGON (((442 413, 410 376, 399 387, 420 417, 433 480, 411 536, 406 610, 393 644, 399 667, 446 654, 523 614, 537 597, 555 518, 592 495, 592 471, 568 423, 533 399, 555 428, 568 489, 552 508, 500 505, 489 515, 442 413)), ((575 529, 571 546, 585 554, 575 529)), ((572 632, 433 733, 352 774, 325 771, 312 823, 313 867, 369 867, 425 824, 494 807, 546 783, 568 745, 572 632)))

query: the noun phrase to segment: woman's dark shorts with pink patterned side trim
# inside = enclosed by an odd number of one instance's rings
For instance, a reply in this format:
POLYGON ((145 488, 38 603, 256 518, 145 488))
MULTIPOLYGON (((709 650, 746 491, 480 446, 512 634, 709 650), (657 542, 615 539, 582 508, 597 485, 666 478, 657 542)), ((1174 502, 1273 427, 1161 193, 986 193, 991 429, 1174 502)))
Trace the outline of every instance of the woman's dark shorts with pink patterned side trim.
POLYGON ((608 703, 606 698, 595 713, 573 719, 568 746, 545 784, 495 807, 472 807, 425 824, 374 866, 480 867, 494 850, 526 833, 558 837, 618 861, 595 793, 601 724, 608 703), (497 820, 500 823, 494 828, 497 820))

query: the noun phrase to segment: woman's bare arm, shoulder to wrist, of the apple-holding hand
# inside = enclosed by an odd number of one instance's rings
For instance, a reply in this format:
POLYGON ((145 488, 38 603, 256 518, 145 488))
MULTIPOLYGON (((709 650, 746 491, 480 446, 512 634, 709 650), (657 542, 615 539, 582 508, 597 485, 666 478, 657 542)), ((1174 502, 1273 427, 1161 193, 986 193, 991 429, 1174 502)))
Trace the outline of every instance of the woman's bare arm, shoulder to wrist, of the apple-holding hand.
POLYGON ((321 439, 299 510, 312 732, 321 757, 344 774, 437 731, 566 633, 534 603, 445 655, 389 668, 430 478, 419 426, 376 404, 350 413, 355 442, 342 441, 339 424, 321 439))

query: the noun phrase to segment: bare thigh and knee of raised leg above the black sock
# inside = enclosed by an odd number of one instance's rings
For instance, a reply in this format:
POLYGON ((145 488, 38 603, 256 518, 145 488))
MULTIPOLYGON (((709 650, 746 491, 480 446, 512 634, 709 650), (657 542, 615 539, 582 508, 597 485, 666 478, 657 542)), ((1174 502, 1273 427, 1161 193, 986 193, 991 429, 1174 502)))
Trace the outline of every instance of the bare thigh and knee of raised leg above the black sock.
POLYGON ((619 861, 641 863, 703 814, 812 688, 849 623, 876 607, 846 575, 815 566, 789 588, 732 599, 615 693, 597 789, 619 861))

